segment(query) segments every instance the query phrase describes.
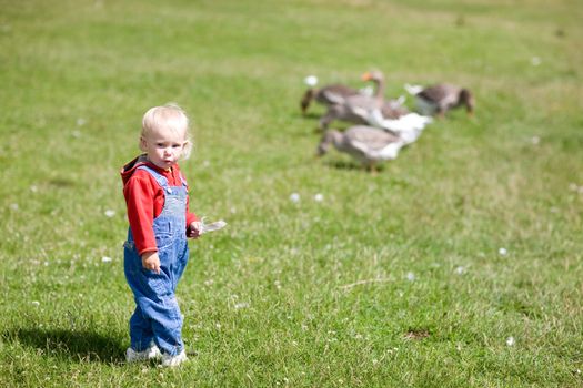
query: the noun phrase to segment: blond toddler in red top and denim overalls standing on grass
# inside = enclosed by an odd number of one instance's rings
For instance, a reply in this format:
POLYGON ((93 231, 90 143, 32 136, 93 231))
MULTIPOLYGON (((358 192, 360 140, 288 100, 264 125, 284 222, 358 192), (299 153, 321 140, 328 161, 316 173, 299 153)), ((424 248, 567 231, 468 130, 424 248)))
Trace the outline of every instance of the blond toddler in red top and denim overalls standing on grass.
POLYGON ((189 258, 187 237, 199 237, 201 223, 189 211, 177 162, 189 156, 191 146, 184 111, 154 106, 142 120, 143 154, 121 171, 130 222, 123 266, 135 300, 128 363, 161 357, 163 366, 173 367, 187 360, 174 293, 189 258))

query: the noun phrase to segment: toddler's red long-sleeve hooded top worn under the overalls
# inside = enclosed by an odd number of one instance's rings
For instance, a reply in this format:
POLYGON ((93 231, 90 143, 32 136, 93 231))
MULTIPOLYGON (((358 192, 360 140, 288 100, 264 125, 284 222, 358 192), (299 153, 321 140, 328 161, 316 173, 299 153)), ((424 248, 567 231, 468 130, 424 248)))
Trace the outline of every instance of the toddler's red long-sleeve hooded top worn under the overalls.
MULTIPOLYGON (((155 178, 144 170, 137 170, 140 165, 147 165, 162 174, 170 186, 182 186, 180 169, 174 164, 169 171, 157 167, 148 162, 143 155, 135 157, 121 170, 123 181, 123 196, 128 206, 128 219, 132 231, 135 248, 140 255, 145 252, 157 252, 153 221, 162 213, 164 207, 164 191, 155 178)), ((187 198, 187 233, 188 225, 199 221, 194 213, 189 211, 187 198)))

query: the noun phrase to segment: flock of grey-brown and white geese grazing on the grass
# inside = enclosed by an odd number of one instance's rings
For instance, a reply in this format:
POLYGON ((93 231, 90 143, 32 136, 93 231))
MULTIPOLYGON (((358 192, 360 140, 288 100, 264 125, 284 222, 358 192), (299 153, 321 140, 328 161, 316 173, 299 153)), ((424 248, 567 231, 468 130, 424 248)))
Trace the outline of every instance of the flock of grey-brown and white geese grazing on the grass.
POLYGON ((446 83, 428 88, 405 84, 405 90, 416 101, 416 112, 410 112, 403 105, 404 98, 384 99, 382 72, 366 72, 362 80, 373 82, 373 90, 356 90, 342 84, 315 89, 318 79, 313 75, 305 79, 309 89, 300 102, 302 113, 306 114, 312 101, 326 106, 319 123, 323 131, 318 145, 319 156, 334 146, 374 172, 379 162, 394 160, 403 146, 416 141, 434 116, 442 118, 449 110, 459 106, 465 106, 468 114, 474 111, 474 98, 464 88, 446 83), (355 125, 343 132, 329 129, 334 121, 355 125))

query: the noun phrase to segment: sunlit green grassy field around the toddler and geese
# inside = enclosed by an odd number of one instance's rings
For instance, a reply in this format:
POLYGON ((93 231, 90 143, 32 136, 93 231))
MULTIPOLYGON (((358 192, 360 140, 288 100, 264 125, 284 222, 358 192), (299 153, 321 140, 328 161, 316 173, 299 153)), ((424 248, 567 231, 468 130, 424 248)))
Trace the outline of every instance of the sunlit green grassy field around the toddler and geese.
POLYGON ((581 20, 577 0, 0 0, 0 386, 581 387, 581 20), (386 96, 465 85, 476 114, 375 176, 315 160, 304 76, 371 69, 386 96), (169 101, 192 208, 229 223, 191 243, 173 370, 123 363, 119 177, 169 101))

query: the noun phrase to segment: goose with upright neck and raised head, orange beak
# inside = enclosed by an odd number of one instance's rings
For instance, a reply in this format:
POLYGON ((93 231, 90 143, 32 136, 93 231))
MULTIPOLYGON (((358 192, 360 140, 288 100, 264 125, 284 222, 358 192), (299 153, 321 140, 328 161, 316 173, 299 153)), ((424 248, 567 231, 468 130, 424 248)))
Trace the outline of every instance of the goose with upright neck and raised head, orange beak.
POLYGON ((384 76, 380 71, 362 74, 363 81, 372 81, 376 88, 373 95, 355 94, 345 98, 340 103, 328 108, 328 112, 320 119, 320 129, 326 130, 334 120, 348 121, 354 124, 366 124, 369 112, 382 109, 384 95, 384 76))

